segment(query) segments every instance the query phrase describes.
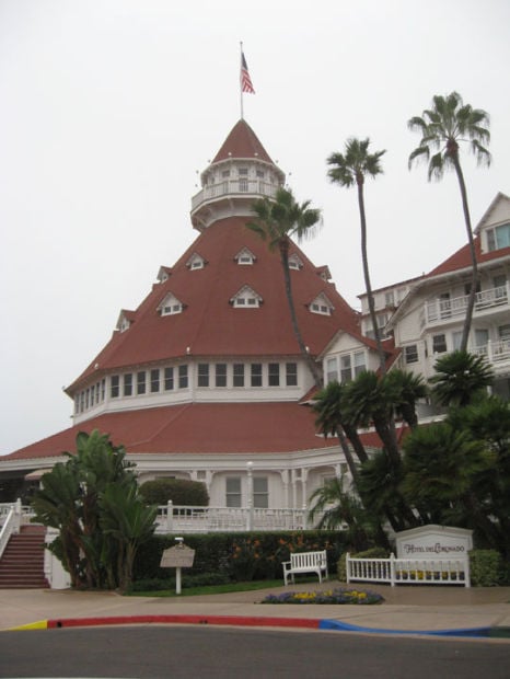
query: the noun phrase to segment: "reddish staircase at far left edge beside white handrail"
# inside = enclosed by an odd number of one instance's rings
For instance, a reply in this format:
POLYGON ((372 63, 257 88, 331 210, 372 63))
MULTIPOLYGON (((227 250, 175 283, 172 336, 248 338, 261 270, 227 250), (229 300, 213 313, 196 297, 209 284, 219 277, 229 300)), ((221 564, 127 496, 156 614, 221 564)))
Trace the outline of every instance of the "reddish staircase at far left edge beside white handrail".
POLYGON ((44 576, 44 526, 22 526, 11 536, 0 559, 0 589, 42 589, 44 576))

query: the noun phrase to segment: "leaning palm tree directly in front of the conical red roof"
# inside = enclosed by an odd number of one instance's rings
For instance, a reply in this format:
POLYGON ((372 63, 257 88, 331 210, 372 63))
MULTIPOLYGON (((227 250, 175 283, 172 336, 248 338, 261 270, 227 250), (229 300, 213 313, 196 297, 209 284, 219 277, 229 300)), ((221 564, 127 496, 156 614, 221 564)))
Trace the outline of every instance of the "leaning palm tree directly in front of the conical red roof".
POLYGON ((255 221, 246 227, 257 233, 263 240, 268 241, 269 250, 278 250, 286 287, 287 301, 289 304, 290 319, 294 337, 298 342, 301 355, 305 359, 317 388, 322 387, 322 376, 314 358, 310 355, 301 335, 295 313, 292 295, 292 283, 289 271, 290 239, 295 237, 298 241, 314 233, 315 227, 321 223, 321 210, 310 207, 310 200, 299 204, 292 192, 287 188, 278 188, 275 198, 259 198, 252 205, 255 221))

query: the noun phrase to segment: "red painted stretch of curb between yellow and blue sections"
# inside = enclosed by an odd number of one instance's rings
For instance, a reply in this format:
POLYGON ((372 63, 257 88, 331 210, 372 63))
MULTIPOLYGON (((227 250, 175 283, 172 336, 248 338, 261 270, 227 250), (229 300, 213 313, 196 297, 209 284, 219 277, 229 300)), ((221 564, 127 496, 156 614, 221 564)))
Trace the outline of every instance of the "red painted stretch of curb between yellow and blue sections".
POLYGON ((121 624, 215 624, 250 628, 306 628, 318 630, 320 620, 308 618, 257 618, 243 615, 106 615, 48 620, 48 630, 121 624))

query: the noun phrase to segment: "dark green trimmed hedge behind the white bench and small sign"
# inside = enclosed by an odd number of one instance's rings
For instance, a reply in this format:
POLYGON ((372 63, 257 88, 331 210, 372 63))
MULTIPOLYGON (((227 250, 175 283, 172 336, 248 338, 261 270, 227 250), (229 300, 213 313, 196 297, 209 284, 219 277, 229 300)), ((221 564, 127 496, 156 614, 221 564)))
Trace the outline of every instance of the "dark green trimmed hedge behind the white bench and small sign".
MULTIPOLYGON (((289 561, 291 552, 324 549, 333 572, 346 544, 344 533, 324 530, 188 534, 184 542, 195 550, 193 568, 185 568, 184 574, 219 574, 230 582, 282 577, 281 564, 289 561)), ((161 568, 160 562, 163 551, 174 545, 173 534, 153 536, 140 545, 134 580, 167 580, 172 577, 174 569, 161 568)))

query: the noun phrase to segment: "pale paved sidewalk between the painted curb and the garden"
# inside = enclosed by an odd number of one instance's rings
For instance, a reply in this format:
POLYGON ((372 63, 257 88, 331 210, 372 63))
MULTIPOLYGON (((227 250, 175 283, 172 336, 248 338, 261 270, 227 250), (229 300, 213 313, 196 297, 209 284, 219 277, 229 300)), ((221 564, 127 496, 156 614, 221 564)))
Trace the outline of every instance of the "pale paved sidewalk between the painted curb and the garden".
MULTIPOLYGON (((318 584, 294 585, 273 589, 208 595, 197 597, 123 597, 115 592, 91 592, 48 589, 0 589, 0 630, 31 625, 38 621, 89 620, 101 624, 101 619, 123 618, 123 623, 134 623, 140 617, 147 622, 158 622, 162 617, 182 617, 183 622, 215 624, 218 617, 235 620, 240 624, 255 625, 257 621, 271 626, 267 619, 281 621, 332 620, 378 631, 430 632, 506 628, 510 630, 510 587, 464 588, 452 586, 397 586, 386 585, 350 587, 370 589, 382 594, 385 601, 375 606, 324 605, 262 605, 267 594, 282 591, 312 591, 339 586, 335 580, 318 584), (187 619, 185 619, 187 617, 187 619), (152 619, 152 620, 151 620, 152 619), (278 619, 278 620, 276 620, 278 619)), ((177 620, 174 620, 177 622, 177 620)), ((292 624, 289 622, 289 624, 292 624)), ((65 626, 65 624, 62 624, 65 626)), ((304 625, 303 625, 304 626, 304 625)), ((498 640, 498 641, 509 641, 498 640)))

